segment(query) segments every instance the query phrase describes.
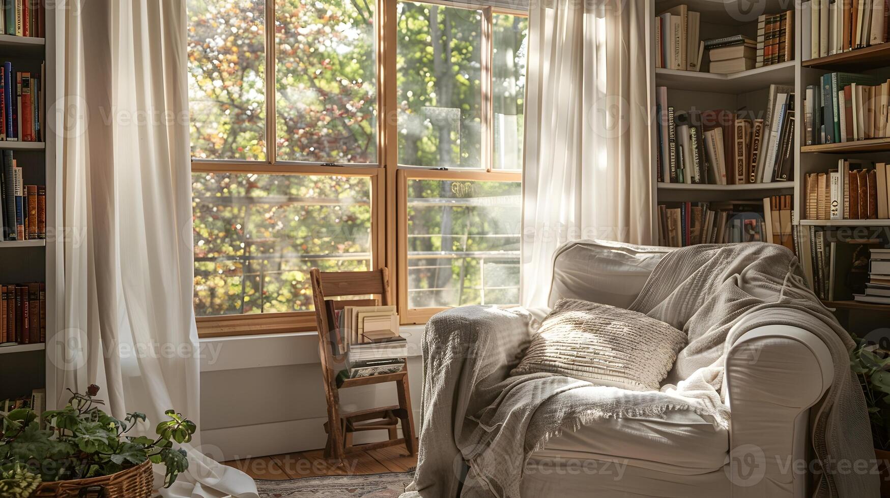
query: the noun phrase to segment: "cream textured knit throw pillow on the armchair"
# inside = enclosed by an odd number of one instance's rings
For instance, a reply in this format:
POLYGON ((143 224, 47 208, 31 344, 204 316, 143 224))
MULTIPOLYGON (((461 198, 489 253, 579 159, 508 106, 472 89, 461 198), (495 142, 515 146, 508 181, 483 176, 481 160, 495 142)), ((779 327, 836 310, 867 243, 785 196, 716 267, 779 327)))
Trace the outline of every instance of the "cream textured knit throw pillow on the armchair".
POLYGON ((549 372, 599 386, 659 390, 686 334, 629 309, 562 299, 511 374, 549 372))

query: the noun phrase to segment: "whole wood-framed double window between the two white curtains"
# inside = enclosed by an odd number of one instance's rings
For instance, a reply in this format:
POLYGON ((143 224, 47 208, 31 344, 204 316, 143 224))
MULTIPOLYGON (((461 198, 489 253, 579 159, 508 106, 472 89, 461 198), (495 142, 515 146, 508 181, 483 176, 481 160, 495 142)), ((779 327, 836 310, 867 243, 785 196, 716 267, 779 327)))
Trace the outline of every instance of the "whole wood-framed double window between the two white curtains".
POLYGON ((390 266, 403 322, 518 301, 522 12, 187 9, 199 333, 314 330, 316 266, 390 266))

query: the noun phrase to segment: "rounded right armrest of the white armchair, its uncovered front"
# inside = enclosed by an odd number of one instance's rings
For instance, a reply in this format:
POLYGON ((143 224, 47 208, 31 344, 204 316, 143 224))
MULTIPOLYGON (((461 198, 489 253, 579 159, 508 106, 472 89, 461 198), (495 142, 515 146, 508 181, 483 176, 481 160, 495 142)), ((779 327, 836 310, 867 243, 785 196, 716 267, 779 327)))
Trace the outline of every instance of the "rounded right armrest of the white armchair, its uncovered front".
POLYGON ((809 408, 833 373, 828 347, 795 326, 761 326, 735 341, 724 376, 733 497, 804 496, 809 408))

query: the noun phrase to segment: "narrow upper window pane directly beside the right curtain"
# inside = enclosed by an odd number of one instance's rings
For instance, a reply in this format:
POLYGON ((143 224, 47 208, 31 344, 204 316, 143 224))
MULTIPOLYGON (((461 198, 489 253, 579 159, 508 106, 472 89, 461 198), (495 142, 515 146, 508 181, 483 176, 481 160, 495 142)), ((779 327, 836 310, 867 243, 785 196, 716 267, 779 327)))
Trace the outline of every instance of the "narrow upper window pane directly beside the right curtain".
POLYGON ((522 169, 522 119, 525 54, 529 19, 494 14, 492 93, 494 94, 495 169, 522 169))

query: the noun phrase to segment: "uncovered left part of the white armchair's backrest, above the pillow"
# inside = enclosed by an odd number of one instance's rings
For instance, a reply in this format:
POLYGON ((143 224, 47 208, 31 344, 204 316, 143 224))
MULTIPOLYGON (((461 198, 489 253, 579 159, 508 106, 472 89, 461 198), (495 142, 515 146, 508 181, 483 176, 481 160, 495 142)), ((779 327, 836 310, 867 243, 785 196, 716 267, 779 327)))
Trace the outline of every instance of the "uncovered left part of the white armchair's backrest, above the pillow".
POLYGON ((548 306, 563 298, 627 308, 671 247, 574 240, 554 253, 548 306))

